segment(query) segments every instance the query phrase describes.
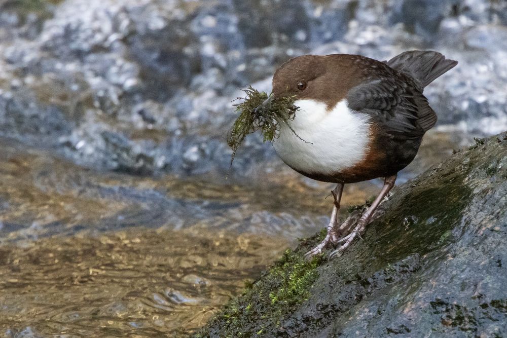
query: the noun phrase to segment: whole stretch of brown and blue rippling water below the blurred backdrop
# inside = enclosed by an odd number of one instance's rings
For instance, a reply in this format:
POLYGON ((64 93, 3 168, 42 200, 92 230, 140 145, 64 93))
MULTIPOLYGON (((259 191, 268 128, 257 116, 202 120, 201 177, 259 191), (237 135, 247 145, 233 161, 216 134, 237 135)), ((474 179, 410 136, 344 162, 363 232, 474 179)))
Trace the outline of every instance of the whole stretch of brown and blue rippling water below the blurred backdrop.
MULTIPOLYGON (((430 134, 409 176, 453 142, 430 134)), ((342 215, 378 183, 347 185, 342 215)), ((97 172, 0 139, 0 332, 185 336, 324 226, 332 187, 289 170, 255 186, 97 172)))

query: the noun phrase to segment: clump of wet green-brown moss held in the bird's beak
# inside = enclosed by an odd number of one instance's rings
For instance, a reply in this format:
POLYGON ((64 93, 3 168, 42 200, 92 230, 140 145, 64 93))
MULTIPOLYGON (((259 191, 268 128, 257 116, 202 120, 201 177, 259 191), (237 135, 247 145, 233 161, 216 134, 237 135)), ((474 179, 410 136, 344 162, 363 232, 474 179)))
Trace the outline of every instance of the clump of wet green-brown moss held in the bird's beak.
POLYGON ((246 97, 237 98, 243 100, 243 102, 234 104, 236 111, 239 112, 239 116, 227 135, 227 144, 232 148, 231 164, 237 149, 246 135, 250 133, 260 129, 264 142, 273 141, 274 138, 279 136, 280 123, 285 123, 296 134, 287 123, 294 120, 296 110, 299 109, 299 107, 294 105, 294 97, 277 98, 276 100, 271 100, 269 104, 261 106, 268 98, 266 92, 259 92, 251 86, 245 89, 244 92, 246 93, 246 97), (258 109, 256 110, 256 108, 258 109))

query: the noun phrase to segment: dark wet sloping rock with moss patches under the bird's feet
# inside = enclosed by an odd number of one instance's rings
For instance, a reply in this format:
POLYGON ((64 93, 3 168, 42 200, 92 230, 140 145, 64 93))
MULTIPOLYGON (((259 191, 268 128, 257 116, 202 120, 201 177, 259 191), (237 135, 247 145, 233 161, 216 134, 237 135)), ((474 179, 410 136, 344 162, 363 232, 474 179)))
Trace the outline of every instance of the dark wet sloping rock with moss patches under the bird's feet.
POLYGON ((302 259, 322 233, 286 251, 195 336, 507 336, 507 132, 384 208, 341 257, 302 259))

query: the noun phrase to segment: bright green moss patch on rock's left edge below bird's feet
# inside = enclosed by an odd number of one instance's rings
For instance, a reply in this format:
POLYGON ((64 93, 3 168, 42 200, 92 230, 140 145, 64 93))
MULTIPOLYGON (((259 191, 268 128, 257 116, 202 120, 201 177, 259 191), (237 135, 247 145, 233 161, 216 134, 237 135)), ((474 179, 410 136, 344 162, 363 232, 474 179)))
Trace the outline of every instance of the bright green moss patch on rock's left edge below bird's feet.
POLYGON ((221 325, 207 327, 219 327, 218 331, 203 329, 194 336, 251 337, 262 334, 268 326, 279 326, 284 316, 310 296, 322 259, 319 255, 306 260, 302 252, 287 249, 262 279, 248 284, 242 296, 212 319, 221 325))

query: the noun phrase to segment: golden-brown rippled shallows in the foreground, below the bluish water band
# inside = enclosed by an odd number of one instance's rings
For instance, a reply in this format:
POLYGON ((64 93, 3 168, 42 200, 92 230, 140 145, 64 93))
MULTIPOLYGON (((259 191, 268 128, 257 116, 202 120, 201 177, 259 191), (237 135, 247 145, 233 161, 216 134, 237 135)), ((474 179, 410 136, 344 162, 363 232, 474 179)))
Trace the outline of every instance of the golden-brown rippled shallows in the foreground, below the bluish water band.
POLYGON ((279 238, 131 229, 0 248, 7 336, 184 335, 280 255, 279 238))

